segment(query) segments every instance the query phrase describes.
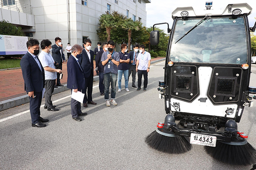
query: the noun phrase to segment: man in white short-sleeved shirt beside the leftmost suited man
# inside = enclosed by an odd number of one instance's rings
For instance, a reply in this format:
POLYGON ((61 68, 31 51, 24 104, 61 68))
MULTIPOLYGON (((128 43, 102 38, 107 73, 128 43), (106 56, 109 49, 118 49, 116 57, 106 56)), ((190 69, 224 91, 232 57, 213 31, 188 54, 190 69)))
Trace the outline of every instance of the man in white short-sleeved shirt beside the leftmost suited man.
POLYGON ((57 74, 61 73, 61 69, 55 69, 54 60, 52 55, 49 53, 49 50, 52 48, 52 42, 50 40, 42 40, 41 41, 41 49, 42 52, 38 55, 38 58, 44 67, 45 70, 45 104, 44 109, 48 111, 58 111, 55 106, 52 105, 52 92, 54 90, 55 79, 57 78, 57 74))

